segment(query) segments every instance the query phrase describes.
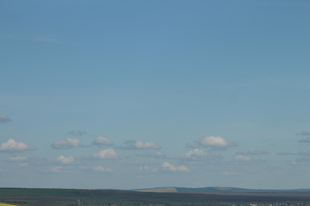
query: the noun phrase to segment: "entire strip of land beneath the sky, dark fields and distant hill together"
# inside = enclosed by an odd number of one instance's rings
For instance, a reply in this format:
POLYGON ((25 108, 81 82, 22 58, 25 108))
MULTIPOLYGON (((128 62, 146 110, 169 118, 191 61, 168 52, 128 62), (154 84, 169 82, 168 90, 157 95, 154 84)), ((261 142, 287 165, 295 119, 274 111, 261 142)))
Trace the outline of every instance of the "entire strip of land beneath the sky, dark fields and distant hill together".
POLYGON ((0 202, 18 206, 308 206, 310 189, 251 190, 165 187, 132 190, 0 188, 0 202), (79 202, 78 202, 79 200, 79 202))

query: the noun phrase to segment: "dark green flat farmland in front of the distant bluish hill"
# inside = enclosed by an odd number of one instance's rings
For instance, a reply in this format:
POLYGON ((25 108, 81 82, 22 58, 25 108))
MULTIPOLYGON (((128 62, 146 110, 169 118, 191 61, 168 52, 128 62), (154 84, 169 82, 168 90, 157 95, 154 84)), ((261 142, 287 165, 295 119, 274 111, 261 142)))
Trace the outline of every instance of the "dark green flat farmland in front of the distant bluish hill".
POLYGON ((0 202, 18 206, 224 206, 310 201, 309 193, 158 193, 118 190, 0 188, 0 202))

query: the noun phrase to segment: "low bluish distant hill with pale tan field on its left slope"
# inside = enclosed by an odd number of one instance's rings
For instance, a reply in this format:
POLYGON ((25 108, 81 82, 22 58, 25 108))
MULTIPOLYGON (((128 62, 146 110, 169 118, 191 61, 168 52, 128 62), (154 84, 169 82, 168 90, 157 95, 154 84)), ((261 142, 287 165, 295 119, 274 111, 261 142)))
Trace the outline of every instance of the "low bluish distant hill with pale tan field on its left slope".
POLYGON ((264 190, 264 189, 245 189, 235 187, 201 187, 201 188, 188 188, 188 187, 162 187, 134 190, 138 192, 182 192, 182 193, 310 193, 310 189, 284 189, 284 190, 264 190))

